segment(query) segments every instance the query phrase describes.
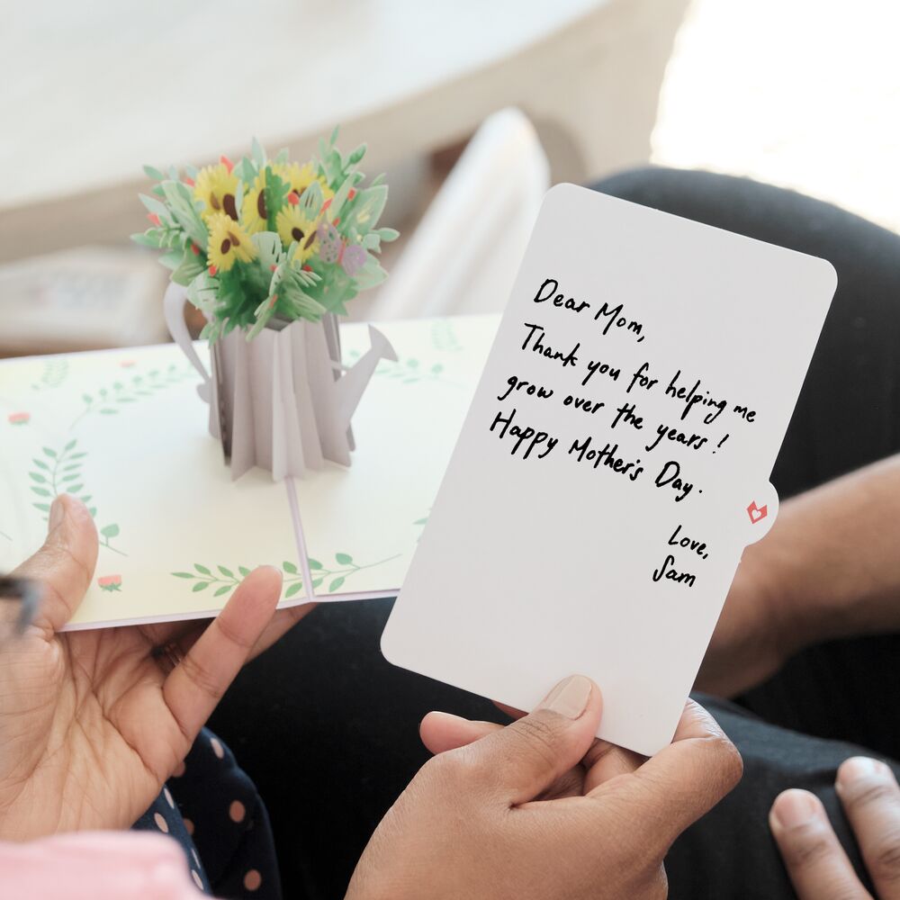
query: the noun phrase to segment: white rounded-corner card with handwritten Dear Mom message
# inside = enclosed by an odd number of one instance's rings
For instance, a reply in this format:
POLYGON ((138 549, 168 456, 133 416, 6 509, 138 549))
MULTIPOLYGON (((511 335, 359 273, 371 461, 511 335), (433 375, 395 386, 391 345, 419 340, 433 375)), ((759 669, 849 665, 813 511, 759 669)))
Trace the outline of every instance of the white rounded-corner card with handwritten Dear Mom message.
POLYGON ((671 741, 836 276, 822 259, 571 184, 547 194, 382 639, 531 709, 572 672, 599 736, 671 741))

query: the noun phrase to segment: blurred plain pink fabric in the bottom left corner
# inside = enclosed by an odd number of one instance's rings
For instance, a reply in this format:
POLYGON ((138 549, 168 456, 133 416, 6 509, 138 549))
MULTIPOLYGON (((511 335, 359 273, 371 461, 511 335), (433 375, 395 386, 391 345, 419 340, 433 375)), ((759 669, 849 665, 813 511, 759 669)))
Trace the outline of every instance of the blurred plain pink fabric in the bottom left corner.
POLYGON ((162 834, 82 832, 0 842, 0 897, 199 900, 184 852, 162 834))

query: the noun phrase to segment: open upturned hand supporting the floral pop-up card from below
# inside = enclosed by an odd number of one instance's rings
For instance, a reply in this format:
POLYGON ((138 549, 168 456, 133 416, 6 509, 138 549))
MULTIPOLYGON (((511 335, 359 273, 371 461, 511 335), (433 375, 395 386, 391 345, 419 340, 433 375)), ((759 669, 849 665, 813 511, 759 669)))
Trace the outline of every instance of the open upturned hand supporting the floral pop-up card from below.
POLYGON ((211 622, 60 633, 96 558, 90 514, 61 496, 46 543, 14 572, 42 582, 43 599, 0 648, 0 840, 130 826, 244 662, 309 609, 276 614, 281 575, 261 568, 211 622))

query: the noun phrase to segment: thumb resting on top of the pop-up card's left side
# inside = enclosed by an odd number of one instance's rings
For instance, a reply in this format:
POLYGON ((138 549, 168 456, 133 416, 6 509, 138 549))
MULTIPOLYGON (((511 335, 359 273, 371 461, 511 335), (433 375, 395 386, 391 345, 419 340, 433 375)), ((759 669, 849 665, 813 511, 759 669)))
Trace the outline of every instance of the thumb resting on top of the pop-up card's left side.
POLYGON ((60 494, 50 507, 47 540, 14 572, 41 582, 43 595, 34 624, 47 637, 73 616, 94 576, 97 529, 85 504, 60 494))

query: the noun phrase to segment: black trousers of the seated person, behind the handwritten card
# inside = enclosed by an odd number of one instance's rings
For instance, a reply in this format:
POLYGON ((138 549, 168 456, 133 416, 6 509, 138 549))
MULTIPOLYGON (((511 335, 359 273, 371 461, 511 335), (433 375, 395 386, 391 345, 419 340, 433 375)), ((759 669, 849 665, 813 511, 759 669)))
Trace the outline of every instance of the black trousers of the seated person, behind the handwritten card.
MULTIPOLYGON (((773 473, 782 498, 900 450, 900 238, 826 203, 723 175, 644 169, 597 189, 837 268, 837 296, 773 473)), ((483 698, 383 660, 391 603, 317 609, 247 666, 213 716, 269 806, 285 896, 343 896, 375 825, 428 758, 418 736, 428 710, 504 721, 483 698)), ((788 787, 823 798, 862 871, 834 771, 860 752, 900 758, 898 650, 896 636, 835 642, 800 654, 740 706, 699 698, 740 748, 745 774, 673 846, 671 897, 794 896, 767 824, 788 787)))

